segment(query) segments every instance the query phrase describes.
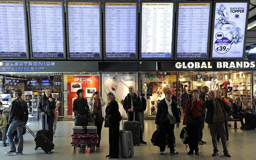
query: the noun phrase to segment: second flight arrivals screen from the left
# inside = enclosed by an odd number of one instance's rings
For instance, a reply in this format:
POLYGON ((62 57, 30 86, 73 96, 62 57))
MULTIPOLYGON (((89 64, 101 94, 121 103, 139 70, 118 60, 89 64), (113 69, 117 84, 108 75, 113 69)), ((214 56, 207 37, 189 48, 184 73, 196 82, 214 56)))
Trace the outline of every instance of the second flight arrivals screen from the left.
POLYGON ((33 57, 64 57, 63 4, 29 1, 33 57))

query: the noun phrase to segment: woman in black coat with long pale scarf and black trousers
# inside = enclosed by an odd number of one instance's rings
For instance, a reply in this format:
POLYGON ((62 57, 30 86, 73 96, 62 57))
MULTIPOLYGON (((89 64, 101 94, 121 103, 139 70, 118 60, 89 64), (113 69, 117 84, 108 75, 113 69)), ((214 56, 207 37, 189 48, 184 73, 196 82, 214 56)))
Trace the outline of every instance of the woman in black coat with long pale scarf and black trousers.
MULTIPOLYGON (((168 143, 173 144, 173 135, 174 135, 174 125, 171 124, 170 119, 173 119, 176 117, 177 125, 176 128, 179 127, 179 114, 178 114, 178 102, 174 99, 172 99, 172 92, 167 91, 165 95, 165 99, 161 100, 158 108, 157 108, 157 115, 156 115, 156 127, 160 130, 161 133, 161 139, 162 144, 160 146, 160 154, 164 154, 165 150, 165 142, 166 142, 166 134, 168 134, 168 143)), ((178 154, 177 151, 175 151, 173 145, 170 145, 170 153, 178 154)))

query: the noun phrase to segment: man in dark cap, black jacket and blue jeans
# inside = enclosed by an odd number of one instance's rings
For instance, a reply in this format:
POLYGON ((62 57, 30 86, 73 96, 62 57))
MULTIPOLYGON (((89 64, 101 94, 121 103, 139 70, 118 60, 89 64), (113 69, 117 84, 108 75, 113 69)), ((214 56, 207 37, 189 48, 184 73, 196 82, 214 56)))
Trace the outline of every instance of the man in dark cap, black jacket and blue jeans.
MULTIPOLYGON (((22 154, 23 151, 23 126, 24 123, 26 123, 26 120, 24 120, 24 117, 28 117, 29 111, 28 111, 28 105, 26 101, 21 99, 22 91, 19 88, 16 88, 13 91, 13 97, 15 100, 11 104, 10 109, 10 115, 8 124, 9 129, 7 131, 7 139, 9 142, 9 145, 11 147, 10 151, 5 152, 6 154, 22 154), (18 152, 16 152, 16 147, 13 141, 13 132, 18 129, 18 138, 19 138, 19 146, 18 146, 18 152)), ((26 119, 26 118, 25 118, 26 119)))

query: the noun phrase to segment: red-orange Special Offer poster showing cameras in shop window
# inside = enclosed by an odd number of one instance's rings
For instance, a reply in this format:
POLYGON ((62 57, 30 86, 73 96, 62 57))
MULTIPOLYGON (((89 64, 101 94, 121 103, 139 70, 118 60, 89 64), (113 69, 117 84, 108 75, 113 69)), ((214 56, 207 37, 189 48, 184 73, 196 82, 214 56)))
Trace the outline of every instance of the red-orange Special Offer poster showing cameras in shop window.
POLYGON ((77 90, 84 90, 84 98, 92 96, 92 90, 99 91, 99 76, 68 76, 68 115, 73 114, 73 101, 78 97, 77 90))

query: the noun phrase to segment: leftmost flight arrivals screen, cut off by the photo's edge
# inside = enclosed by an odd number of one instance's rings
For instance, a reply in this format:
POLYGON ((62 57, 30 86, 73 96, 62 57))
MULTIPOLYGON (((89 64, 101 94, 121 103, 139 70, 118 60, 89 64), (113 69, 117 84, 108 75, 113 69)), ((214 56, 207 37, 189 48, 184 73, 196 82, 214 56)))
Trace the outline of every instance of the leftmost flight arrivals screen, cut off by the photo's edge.
POLYGON ((27 57, 23 1, 0 1, 0 57, 27 57))

